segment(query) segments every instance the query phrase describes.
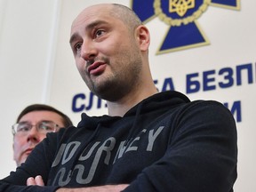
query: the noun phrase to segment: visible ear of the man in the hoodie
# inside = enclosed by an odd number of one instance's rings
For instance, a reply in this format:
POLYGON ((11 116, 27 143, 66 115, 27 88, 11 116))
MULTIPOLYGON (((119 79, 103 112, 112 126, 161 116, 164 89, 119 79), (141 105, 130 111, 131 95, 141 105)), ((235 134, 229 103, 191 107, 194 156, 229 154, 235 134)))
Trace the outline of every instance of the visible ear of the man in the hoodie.
POLYGON ((150 44, 150 34, 146 26, 140 25, 136 28, 136 35, 139 39, 140 51, 148 51, 150 44))

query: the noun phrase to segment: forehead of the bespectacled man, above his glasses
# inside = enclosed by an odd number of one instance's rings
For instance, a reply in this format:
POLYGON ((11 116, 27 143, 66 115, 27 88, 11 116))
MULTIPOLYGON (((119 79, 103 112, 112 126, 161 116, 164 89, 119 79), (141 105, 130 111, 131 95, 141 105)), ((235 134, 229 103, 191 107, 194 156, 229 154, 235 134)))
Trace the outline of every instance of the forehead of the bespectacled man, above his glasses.
POLYGON ((62 125, 62 121, 61 121, 62 117, 53 112, 53 111, 46 111, 46 110, 43 110, 43 111, 31 111, 29 112, 28 114, 25 114, 24 116, 22 116, 20 118, 20 121, 19 122, 31 122, 33 124, 36 124, 37 122, 40 122, 40 121, 52 121, 56 124, 60 124, 62 125))

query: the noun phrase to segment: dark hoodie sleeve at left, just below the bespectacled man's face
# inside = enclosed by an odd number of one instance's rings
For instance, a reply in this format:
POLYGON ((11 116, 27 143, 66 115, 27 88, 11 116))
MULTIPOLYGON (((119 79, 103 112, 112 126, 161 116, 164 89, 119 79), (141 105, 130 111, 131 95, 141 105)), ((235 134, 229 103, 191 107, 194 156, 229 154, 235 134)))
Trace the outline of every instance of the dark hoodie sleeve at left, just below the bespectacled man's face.
POLYGON ((39 186, 27 186, 27 179, 29 177, 36 177, 41 175, 44 183, 48 180, 49 170, 51 168, 52 158, 54 156, 56 141, 48 138, 40 142, 36 148, 28 156, 26 162, 17 167, 15 172, 0 180, 0 191, 4 192, 22 192, 22 191, 37 191, 37 192, 52 192, 58 187, 39 187, 39 186), (55 144, 54 144, 55 143, 55 144), (49 151, 49 148, 52 150, 49 151), (45 151, 47 149, 47 152, 45 151))

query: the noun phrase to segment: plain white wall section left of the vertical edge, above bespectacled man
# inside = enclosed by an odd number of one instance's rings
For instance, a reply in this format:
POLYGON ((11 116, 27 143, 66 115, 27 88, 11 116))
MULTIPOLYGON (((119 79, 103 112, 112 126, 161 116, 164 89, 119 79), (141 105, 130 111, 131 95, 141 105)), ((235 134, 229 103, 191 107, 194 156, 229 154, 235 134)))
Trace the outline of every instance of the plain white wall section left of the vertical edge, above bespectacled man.
POLYGON ((52 52, 55 44, 52 44, 52 36, 55 36, 55 20, 59 16, 56 11, 61 7, 56 6, 56 0, 0 2, 2 178, 15 168, 12 161, 11 125, 28 104, 47 100, 50 91, 48 84, 51 84, 54 68, 52 52))

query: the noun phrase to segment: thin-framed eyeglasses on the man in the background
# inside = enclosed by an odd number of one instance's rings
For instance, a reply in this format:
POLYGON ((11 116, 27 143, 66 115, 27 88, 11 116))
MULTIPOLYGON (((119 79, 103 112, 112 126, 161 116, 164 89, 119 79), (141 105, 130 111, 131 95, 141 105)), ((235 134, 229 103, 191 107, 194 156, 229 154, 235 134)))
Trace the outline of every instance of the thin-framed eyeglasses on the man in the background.
POLYGON ((42 122, 38 122, 37 124, 20 122, 18 124, 12 125, 12 134, 27 135, 33 126, 36 126, 37 132, 44 133, 44 134, 46 134, 47 132, 56 132, 56 129, 59 127, 58 124, 54 124, 51 121, 42 121, 42 122))

